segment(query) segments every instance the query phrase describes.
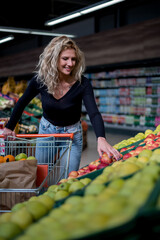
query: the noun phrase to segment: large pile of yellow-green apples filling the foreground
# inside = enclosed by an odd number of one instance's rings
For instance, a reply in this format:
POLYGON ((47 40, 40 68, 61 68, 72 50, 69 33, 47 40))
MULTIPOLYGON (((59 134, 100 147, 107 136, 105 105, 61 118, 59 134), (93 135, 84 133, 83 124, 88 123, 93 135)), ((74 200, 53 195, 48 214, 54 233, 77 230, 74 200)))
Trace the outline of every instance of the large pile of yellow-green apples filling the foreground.
MULTIPOLYGON (((50 240, 54 236, 57 240, 87 239, 87 236, 94 239, 95 234, 107 238, 107 231, 111 230, 117 234, 116 227, 138 219, 139 209, 157 185, 159 151, 155 150, 149 159, 150 164, 136 168, 128 165, 129 161, 115 162, 93 181, 86 182, 79 193, 75 187, 71 190, 71 186, 82 179, 72 181, 68 188, 71 196, 65 197, 57 206, 53 197, 46 193, 15 205, 12 212, 0 216, 0 237, 50 240), (120 169, 120 166, 123 167, 120 169)), ((47 192, 61 191, 64 187, 64 184, 53 185, 47 192)), ((126 231, 130 230, 126 228, 126 231)))

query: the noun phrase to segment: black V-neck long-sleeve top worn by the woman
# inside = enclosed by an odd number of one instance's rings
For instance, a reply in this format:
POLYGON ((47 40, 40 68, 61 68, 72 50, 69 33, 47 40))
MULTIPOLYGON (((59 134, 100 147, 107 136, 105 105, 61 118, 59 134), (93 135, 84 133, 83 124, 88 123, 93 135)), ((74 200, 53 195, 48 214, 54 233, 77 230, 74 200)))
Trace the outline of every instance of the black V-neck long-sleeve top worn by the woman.
POLYGON ((19 121, 24 108, 38 94, 41 95, 43 116, 55 126, 68 126, 80 120, 82 100, 86 107, 96 137, 105 137, 104 123, 97 108, 90 81, 82 76, 81 83, 76 81, 69 91, 60 99, 47 93, 47 87, 42 86, 34 76, 16 103, 6 127, 13 130, 19 121))

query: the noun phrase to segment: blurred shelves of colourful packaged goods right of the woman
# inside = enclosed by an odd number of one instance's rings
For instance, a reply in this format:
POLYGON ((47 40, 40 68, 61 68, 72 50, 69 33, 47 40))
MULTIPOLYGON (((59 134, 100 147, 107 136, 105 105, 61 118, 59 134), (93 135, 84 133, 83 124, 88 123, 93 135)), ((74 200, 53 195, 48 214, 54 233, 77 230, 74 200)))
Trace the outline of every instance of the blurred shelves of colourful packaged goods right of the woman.
POLYGON ((150 65, 86 71, 106 127, 144 131, 160 124, 160 66, 150 65))

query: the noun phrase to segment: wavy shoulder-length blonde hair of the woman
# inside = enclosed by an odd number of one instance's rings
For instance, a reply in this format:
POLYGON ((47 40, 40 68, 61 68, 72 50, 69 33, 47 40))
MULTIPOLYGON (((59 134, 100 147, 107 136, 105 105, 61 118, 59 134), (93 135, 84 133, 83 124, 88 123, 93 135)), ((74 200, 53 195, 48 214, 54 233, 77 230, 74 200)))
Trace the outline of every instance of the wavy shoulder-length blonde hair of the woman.
POLYGON ((37 64, 37 80, 47 87, 48 93, 54 94, 59 83, 58 60, 63 50, 74 49, 76 53, 76 65, 71 75, 78 81, 85 70, 85 58, 83 52, 76 45, 75 41, 60 36, 53 38, 45 47, 43 53, 39 57, 37 64))

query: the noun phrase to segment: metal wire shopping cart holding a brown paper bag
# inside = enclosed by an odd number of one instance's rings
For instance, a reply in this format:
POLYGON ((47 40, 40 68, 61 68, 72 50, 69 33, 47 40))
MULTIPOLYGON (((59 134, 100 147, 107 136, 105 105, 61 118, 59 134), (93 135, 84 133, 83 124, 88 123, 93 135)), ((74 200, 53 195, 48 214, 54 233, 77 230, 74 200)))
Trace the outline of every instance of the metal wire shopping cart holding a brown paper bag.
POLYGON ((2 202, 23 202, 22 195, 26 195, 25 200, 29 199, 33 195, 43 193, 50 185, 57 184, 60 179, 67 178, 73 136, 73 133, 17 134, 16 137, 9 136, 5 140, 4 136, 0 135, 0 156, 25 153, 28 157, 33 156, 37 159, 37 185, 34 189, 2 188, 0 183, 0 212, 10 211, 1 207, 2 202))

